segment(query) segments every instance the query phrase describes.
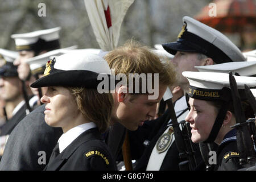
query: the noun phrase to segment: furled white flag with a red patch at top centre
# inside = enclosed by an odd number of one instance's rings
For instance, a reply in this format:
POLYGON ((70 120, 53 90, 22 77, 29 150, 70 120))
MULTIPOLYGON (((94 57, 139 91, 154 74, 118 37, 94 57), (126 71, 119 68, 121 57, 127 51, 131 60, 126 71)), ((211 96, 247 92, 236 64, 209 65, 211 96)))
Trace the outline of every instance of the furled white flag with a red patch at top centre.
POLYGON ((134 0, 84 0, 94 35, 102 51, 117 47, 123 18, 134 0))

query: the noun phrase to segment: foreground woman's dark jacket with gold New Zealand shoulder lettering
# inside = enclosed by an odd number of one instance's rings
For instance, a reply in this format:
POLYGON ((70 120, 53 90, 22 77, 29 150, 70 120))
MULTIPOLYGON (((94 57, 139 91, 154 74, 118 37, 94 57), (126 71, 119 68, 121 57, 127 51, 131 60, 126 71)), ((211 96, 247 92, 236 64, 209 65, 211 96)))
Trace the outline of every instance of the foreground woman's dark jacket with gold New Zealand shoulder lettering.
POLYGON ((84 131, 60 154, 55 155, 53 150, 49 163, 44 170, 109 171, 117 169, 109 148, 102 140, 97 128, 84 131))

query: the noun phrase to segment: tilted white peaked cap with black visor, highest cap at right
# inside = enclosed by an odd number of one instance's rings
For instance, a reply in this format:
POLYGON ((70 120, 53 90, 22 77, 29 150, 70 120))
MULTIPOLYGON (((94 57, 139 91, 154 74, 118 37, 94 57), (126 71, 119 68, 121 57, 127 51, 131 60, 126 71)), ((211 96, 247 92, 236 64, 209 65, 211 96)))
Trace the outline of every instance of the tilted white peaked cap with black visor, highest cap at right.
POLYGON ((162 44, 167 52, 198 52, 211 57, 216 63, 245 61, 240 49, 225 35, 189 16, 183 17, 183 28, 176 42, 162 44))

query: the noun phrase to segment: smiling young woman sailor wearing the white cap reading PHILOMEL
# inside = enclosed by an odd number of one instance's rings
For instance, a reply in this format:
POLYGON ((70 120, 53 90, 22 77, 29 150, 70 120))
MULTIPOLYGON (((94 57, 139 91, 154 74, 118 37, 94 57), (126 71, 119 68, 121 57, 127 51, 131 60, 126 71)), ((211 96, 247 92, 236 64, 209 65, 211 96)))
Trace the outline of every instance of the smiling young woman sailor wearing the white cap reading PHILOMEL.
MULTIPOLYGON (((189 81, 189 113, 185 120, 190 123, 193 143, 214 142, 217 162, 214 170, 237 170, 239 153, 236 142, 234 107, 229 89, 229 74, 209 72, 183 72, 189 81)), ((246 76, 234 76, 238 89, 244 84, 256 86, 256 80, 246 76)), ((244 105, 243 105, 244 106, 244 105)), ((246 109, 246 108, 243 108, 246 109)))

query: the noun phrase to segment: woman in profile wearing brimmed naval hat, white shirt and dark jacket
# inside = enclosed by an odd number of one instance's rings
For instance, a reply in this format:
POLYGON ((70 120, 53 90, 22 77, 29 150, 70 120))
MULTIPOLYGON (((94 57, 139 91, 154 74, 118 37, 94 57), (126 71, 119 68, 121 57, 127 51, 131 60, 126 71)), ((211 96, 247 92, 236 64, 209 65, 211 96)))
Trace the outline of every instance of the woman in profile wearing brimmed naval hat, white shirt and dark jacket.
POLYGON ((47 62, 44 76, 31 87, 47 87, 41 98, 47 125, 61 127, 61 135, 44 170, 115 170, 115 162, 101 138, 109 126, 113 98, 97 90, 108 63, 90 53, 71 52, 47 62))

